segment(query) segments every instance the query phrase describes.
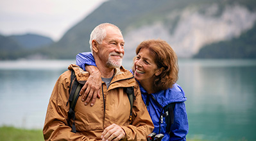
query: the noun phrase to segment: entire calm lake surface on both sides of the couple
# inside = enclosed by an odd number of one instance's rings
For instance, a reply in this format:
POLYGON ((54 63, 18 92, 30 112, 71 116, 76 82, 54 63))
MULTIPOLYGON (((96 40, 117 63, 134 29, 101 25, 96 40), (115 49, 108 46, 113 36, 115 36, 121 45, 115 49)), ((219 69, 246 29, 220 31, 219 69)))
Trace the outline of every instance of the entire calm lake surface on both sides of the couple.
MULTIPOLYGON (((42 129, 58 76, 74 60, 0 62, 0 126, 42 129)), ((130 69, 132 62, 123 62, 130 69)), ((256 60, 179 60, 189 135, 256 140, 256 60)))

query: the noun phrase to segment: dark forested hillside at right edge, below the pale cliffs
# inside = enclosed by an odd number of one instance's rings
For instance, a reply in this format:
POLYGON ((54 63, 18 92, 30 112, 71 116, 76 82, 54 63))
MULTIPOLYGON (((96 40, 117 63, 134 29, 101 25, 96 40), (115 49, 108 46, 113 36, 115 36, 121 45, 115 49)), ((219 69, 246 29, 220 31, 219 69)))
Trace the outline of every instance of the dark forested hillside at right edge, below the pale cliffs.
POLYGON ((256 25, 240 37, 202 47, 194 58, 256 58, 256 25))

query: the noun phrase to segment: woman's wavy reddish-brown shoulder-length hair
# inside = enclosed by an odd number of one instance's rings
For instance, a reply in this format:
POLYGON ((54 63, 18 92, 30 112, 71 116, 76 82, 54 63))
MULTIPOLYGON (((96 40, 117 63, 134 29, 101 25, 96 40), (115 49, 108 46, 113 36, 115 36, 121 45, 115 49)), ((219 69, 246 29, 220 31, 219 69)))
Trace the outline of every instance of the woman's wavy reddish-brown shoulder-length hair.
POLYGON ((178 80, 178 58, 175 51, 164 40, 145 40, 137 47, 136 54, 142 48, 149 49, 158 69, 164 68, 159 76, 155 76, 155 90, 173 87, 178 80))

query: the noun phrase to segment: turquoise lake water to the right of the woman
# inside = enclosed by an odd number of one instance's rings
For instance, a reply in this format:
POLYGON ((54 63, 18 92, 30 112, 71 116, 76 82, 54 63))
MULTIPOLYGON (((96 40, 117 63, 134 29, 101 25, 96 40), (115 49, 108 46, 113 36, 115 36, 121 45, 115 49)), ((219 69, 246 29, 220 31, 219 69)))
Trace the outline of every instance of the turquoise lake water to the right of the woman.
POLYGON ((255 72, 252 60, 183 62, 178 83, 188 97, 188 137, 256 140, 255 72))

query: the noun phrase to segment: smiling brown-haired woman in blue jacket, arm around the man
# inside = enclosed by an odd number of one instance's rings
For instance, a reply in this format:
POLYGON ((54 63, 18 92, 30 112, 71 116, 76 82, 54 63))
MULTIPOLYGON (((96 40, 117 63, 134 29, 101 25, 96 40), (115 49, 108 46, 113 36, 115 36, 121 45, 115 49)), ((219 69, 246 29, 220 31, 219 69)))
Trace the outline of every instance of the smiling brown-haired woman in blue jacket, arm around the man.
MULTIPOLYGON (((146 40, 139 44, 136 54, 133 69, 130 71, 139 82, 142 99, 155 126, 153 133, 164 135, 162 140, 186 140, 189 124, 184 102, 187 98, 182 88, 176 84, 178 80, 176 53, 164 40, 146 40)), ((92 78, 95 80, 87 81, 80 92, 86 104, 93 97, 93 104, 96 101, 97 90, 90 88, 92 85, 96 88, 95 84, 101 85, 100 75, 93 75, 93 71, 96 71, 95 67, 87 66, 96 66, 94 58, 90 53, 80 53, 76 57, 77 65, 83 69, 85 66, 90 68, 92 78)))

